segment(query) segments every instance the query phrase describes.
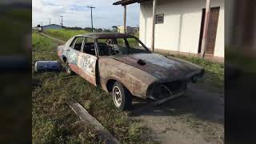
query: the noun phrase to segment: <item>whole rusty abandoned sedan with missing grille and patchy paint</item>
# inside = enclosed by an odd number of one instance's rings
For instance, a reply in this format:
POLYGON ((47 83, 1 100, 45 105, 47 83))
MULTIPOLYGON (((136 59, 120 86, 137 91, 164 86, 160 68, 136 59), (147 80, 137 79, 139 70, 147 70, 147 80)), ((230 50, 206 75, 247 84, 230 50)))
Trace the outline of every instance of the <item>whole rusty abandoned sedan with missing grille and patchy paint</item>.
POLYGON ((68 74, 79 74, 113 97, 119 110, 129 110, 131 96, 161 101, 178 96, 187 82, 197 82, 202 67, 178 58, 153 54, 129 34, 80 34, 58 46, 68 74))

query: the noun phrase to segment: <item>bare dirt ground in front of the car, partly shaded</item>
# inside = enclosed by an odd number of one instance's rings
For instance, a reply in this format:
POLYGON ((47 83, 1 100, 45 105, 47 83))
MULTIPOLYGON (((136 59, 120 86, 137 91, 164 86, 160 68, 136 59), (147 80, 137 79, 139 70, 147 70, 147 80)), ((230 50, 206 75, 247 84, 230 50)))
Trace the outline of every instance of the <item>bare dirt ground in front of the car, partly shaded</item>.
POLYGON ((186 94, 161 106, 134 100, 132 117, 161 143, 223 143, 224 93, 190 84, 186 94))

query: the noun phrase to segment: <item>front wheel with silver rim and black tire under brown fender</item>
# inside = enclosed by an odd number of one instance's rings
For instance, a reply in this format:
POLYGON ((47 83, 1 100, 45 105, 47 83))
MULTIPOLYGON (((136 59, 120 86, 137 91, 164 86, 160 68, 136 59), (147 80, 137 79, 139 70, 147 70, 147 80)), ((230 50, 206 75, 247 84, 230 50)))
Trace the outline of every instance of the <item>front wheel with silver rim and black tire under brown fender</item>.
POLYGON ((114 106, 116 106, 118 110, 130 110, 132 105, 131 94, 121 83, 114 82, 112 87, 112 97, 114 106))

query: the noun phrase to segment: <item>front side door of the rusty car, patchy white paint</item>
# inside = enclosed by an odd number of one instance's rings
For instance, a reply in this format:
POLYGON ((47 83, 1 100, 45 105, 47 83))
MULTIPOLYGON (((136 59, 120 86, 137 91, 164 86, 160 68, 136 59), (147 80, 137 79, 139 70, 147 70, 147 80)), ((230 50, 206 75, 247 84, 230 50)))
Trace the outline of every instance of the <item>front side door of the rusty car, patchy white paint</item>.
POLYGON ((98 60, 94 38, 85 38, 81 53, 78 55, 79 74, 88 82, 97 86, 96 62, 98 60))

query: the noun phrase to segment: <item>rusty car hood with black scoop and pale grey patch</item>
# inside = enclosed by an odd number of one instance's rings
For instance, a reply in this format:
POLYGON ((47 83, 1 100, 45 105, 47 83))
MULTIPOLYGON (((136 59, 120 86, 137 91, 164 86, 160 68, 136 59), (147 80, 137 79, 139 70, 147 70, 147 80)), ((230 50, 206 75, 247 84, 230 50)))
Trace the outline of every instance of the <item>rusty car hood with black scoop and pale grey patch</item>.
POLYGON ((134 66, 139 70, 143 70, 162 81, 190 78, 202 70, 202 67, 191 62, 186 62, 178 58, 167 58, 160 54, 126 54, 113 58, 119 62, 134 66))

